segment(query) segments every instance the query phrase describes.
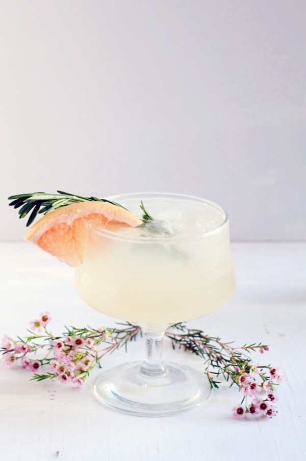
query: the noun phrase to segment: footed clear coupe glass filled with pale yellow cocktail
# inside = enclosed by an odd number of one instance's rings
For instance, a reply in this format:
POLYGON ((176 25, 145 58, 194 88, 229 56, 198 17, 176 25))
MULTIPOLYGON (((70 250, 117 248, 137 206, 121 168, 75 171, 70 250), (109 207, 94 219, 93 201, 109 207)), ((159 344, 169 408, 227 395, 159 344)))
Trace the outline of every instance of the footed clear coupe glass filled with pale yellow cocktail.
POLYGON ((90 223, 75 286, 89 306, 141 327, 145 358, 101 373, 93 393, 140 416, 190 410, 208 399, 210 384, 189 366, 163 362, 162 341, 168 327, 210 314, 234 293, 227 214, 213 202, 179 194, 110 200, 139 217, 142 200, 155 221, 117 232, 90 223))

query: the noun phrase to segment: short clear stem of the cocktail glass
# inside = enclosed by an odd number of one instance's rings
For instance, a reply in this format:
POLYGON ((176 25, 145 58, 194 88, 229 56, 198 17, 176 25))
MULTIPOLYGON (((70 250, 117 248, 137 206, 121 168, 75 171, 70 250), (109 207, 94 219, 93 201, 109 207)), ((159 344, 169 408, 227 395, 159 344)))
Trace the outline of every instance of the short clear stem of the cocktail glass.
POLYGON ((145 359, 141 365, 141 373, 146 376, 162 376, 165 366, 162 362, 163 337, 165 332, 144 330, 145 359))

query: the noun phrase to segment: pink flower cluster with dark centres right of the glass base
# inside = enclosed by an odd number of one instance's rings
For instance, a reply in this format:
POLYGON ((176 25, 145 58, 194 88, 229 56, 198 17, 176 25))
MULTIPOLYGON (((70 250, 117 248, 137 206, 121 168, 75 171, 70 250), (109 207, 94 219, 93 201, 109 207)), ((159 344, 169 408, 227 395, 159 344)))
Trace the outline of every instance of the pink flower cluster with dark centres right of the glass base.
MULTIPOLYGON (((235 367, 234 370, 236 373, 240 372, 239 367, 235 367)), ((269 377, 262 377, 264 381, 261 384, 256 382, 256 375, 260 375, 260 370, 258 365, 252 364, 248 372, 238 375, 238 384, 245 399, 245 406, 240 404, 233 408, 233 416, 236 418, 243 418, 246 413, 252 415, 261 413, 267 418, 272 418, 276 414, 276 407, 272 405, 272 402, 278 400, 278 397, 273 386, 282 381, 279 368, 269 368, 269 377), (260 394, 264 395, 260 396, 260 394), (246 404, 247 397, 252 399, 249 405, 246 404)))

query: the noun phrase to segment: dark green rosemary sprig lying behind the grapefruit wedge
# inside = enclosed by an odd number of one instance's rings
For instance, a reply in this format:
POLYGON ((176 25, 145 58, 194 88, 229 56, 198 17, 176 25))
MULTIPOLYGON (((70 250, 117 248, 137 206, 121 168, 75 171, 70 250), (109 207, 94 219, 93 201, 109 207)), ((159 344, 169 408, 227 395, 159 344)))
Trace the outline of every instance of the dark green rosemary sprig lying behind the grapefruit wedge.
MULTIPOLYGON (((108 202, 113 205, 120 205, 120 203, 107 200, 105 198, 97 197, 83 197, 82 195, 70 194, 69 192, 57 191, 57 194, 48 194, 45 192, 34 192, 29 194, 17 194, 11 195, 9 200, 12 200, 9 205, 14 206, 14 208, 19 208, 18 214, 19 218, 24 218, 30 212, 30 216, 27 222, 27 227, 30 226, 35 220, 38 214, 46 214, 50 211, 61 208, 61 206, 71 205, 72 203, 78 203, 83 201, 100 201, 108 202)), ((143 203, 141 202, 141 210, 144 211, 143 222, 146 222, 149 219, 153 219, 144 209, 143 203)), ((124 208, 125 209, 125 208, 124 208)), ((126 209, 125 209, 126 210, 126 209)))

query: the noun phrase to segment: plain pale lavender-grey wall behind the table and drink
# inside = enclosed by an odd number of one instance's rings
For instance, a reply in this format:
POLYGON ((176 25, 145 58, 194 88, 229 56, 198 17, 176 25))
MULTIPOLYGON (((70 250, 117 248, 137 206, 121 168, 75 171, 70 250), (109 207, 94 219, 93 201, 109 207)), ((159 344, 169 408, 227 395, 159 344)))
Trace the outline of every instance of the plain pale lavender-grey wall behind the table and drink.
POLYGON ((303 0, 0 4, 1 239, 16 193, 158 190, 224 206, 234 240, 302 240, 303 0))

